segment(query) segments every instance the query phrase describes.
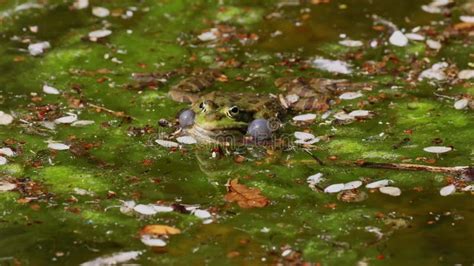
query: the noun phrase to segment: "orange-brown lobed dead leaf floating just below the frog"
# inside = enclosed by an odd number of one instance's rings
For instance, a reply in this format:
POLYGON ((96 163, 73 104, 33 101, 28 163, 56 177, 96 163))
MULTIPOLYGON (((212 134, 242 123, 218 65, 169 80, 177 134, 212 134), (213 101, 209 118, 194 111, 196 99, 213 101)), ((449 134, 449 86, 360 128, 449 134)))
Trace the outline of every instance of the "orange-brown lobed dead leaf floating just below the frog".
POLYGON ((233 179, 228 183, 228 193, 224 200, 237 202, 241 208, 262 208, 268 205, 269 200, 260 194, 260 189, 249 188, 239 184, 239 179, 233 179))

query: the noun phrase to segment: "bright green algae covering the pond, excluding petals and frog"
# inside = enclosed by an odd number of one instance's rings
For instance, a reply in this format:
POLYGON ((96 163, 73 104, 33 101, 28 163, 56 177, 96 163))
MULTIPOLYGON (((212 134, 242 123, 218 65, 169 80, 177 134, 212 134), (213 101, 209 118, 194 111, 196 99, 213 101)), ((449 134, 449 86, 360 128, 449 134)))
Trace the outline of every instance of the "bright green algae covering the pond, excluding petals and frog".
MULTIPOLYGON (((14 2, 2 3, 1 9, 10 9, 14 2)), ((349 1, 347 9, 340 9, 339 3, 309 5, 310 19, 303 27, 295 27, 294 23, 300 20, 301 12, 307 11, 291 6, 277 8, 272 1, 104 2, 100 5, 110 9, 130 6, 136 9, 128 20, 107 18, 113 34, 97 43, 83 37, 103 27, 104 20, 91 16, 90 9, 70 10, 69 2, 48 2, 47 9, 24 11, 16 19, 9 17, 0 23, 0 31, 5 34, 0 38, 0 110, 25 115, 33 113, 33 107, 58 104, 62 115, 72 111, 79 113, 80 119, 94 120, 95 124, 83 128, 58 125, 46 136, 28 133, 18 121, 0 128, 0 140, 15 138, 25 142, 16 158, 0 166, 0 172, 19 179, 31 178, 52 193, 51 199, 33 199, 27 204, 17 202, 25 196, 18 191, 0 193, 3 213, 0 216, 0 257, 13 256, 26 265, 78 264, 114 252, 143 250, 145 254, 138 260, 143 265, 255 265, 284 260, 283 248, 290 247, 301 253, 302 260, 323 265, 354 265, 361 261, 374 265, 410 264, 409 261, 413 264, 472 263, 468 257, 471 246, 467 237, 473 232, 469 226, 474 218, 469 206, 471 196, 458 193, 440 197, 439 188, 446 185, 445 175, 361 169, 343 164, 357 159, 416 163, 417 158, 425 158, 446 166, 472 165, 472 110, 454 110, 452 101, 441 101, 434 96, 436 86, 426 83, 405 89, 404 73, 335 76, 376 81, 374 90, 366 94, 377 96, 383 92, 388 98, 364 106, 375 113, 374 118, 367 121, 309 126, 318 136, 330 136, 313 151, 326 162, 323 166, 298 149, 281 152, 278 160, 262 162, 258 156, 248 156, 248 161, 237 163, 232 156, 212 161, 210 148, 196 152, 188 146, 178 151, 159 147, 154 140, 167 129, 156 127, 156 121, 159 118, 173 120, 175 114, 186 107, 166 97, 169 87, 180 77, 171 77, 169 83, 158 88, 127 88, 134 72, 216 67, 221 64, 219 60, 237 58, 250 63, 226 69, 229 82, 219 83, 214 89, 275 94, 278 90, 273 80, 288 73, 332 77, 323 71, 284 67, 278 64, 281 61, 278 58, 293 54, 302 58, 318 55, 343 59, 365 48, 337 44, 341 32, 364 41, 381 37, 370 31, 372 22, 361 15, 361 10, 387 16, 400 27, 411 28, 428 24, 435 18, 435 15, 421 13, 421 1, 387 1, 384 5, 349 1), (281 11, 287 17, 283 20, 263 17, 273 11, 281 11), (329 13, 335 15, 327 16, 329 13), (209 18, 255 32, 259 40, 253 45, 236 45, 237 41, 231 41, 226 44, 230 52, 207 47, 196 41, 195 36, 214 27, 209 18), (361 22, 354 24, 354 20, 359 19, 361 22), (35 58, 18 50, 26 48, 25 44, 9 39, 22 35, 22 28, 31 25, 39 25, 35 38, 52 44, 44 55, 35 58), (270 37, 277 30, 283 34, 270 37), (15 62, 18 56, 24 60, 15 62), (196 61, 192 61, 193 56, 196 61), (117 58, 121 63, 110 58, 117 58), (98 69, 109 72, 96 73, 98 69), (250 80, 236 81, 237 76, 250 80), (127 121, 94 108, 70 107, 66 97, 42 94, 41 87, 45 83, 86 103, 125 112, 133 119, 127 121), (31 102, 32 93, 40 95, 42 101, 31 102), (145 125, 155 131, 137 135, 131 129, 145 125), (407 130, 412 133, 406 133, 407 130), (404 142, 406 138, 409 140, 404 142), (81 143, 97 146, 84 153, 52 152, 46 150, 48 139, 65 142, 79 139, 81 143), (440 140, 440 145, 452 145, 455 150, 439 157, 422 150, 440 140), (336 156, 336 160, 328 160, 330 156, 336 156), (36 165, 36 161, 42 165, 36 165), (322 187, 386 178, 393 180, 403 192, 400 197, 391 197, 371 191, 364 202, 341 202, 334 194, 308 188, 306 178, 318 172, 326 178, 320 184, 322 187), (231 178, 240 178, 241 183, 259 188, 269 198, 269 206, 247 210, 225 202, 224 184, 231 178), (75 188, 93 194, 78 195, 75 188), (212 208, 216 220, 205 225, 190 213, 151 217, 121 213, 118 208, 121 201, 132 199, 142 204, 199 204, 203 209, 212 208), (33 204, 40 208, 33 210, 30 207, 33 204), (393 231, 377 218, 377 213, 411 217, 407 218, 412 221, 411 227, 393 231), (435 221, 431 213, 442 215, 441 222, 428 224, 435 221), (167 224, 183 233, 171 236, 163 250, 153 250, 138 237, 140 229, 147 224, 167 224), (380 228, 386 236, 377 242, 375 235, 364 229, 367 226, 380 228), (238 251, 239 255, 228 256, 232 251, 238 251), (58 256, 61 253, 63 255, 58 256), (381 254, 385 255, 384 260, 381 254)), ((458 67, 466 68, 472 61, 468 56, 472 47, 450 42, 435 59, 449 58, 458 67)), ((397 55, 403 64, 413 57, 430 56, 422 42, 404 48, 381 47, 366 51, 364 56, 368 60, 381 60, 384 49, 397 55)), ((435 59, 433 62, 438 61, 435 59)), ((354 66, 361 64, 355 62, 354 66)), ((450 95, 473 94, 473 87, 468 85, 445 89, 450 95)), ((359 108, 357 103, 358 100, 346 101, 341 103, 341 108, 355 110, 359 108)), ((297 129, 285 127, 282 133, 291 135, 297 129)))

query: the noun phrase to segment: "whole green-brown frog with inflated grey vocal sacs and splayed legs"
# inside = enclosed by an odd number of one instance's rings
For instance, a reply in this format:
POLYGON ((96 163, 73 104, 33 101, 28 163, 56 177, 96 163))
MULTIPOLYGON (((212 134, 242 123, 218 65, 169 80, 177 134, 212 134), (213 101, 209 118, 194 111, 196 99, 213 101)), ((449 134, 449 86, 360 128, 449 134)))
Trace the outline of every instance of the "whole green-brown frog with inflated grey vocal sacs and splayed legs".
POLYGON ((170 91, 177 102, 191 104, 180 114, 180 126, 200 143, 241 142, 246 133, 254 140, 269 139, 287 111, 325 111, 334 96, 367 84, 322 78, 279 78, 279 97, 270 94, 213 91, 221 73, 203 71, 183 79, 170 91))

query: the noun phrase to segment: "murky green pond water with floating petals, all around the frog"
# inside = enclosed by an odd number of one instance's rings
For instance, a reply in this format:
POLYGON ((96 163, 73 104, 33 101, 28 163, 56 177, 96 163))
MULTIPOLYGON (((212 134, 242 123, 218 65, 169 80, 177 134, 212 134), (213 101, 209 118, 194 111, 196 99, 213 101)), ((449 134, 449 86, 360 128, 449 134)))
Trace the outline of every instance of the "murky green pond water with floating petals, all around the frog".
POLYGON ((0 0, 0 264, 474 263, 472 179, 354 164, 473 165, 474 2, 87 2, 0 0), (406 36, 430 41, 394 45, 406 36), (208 68, 224 75, 210 91, 278 95, 280 77, 371 89, 303 112, 314 121, 288 112, 284 147, 159 145, 173 129, 158 120, 188 108, 169 89, 208 68), (401 194, 365 187, 382 179, 401 194))

